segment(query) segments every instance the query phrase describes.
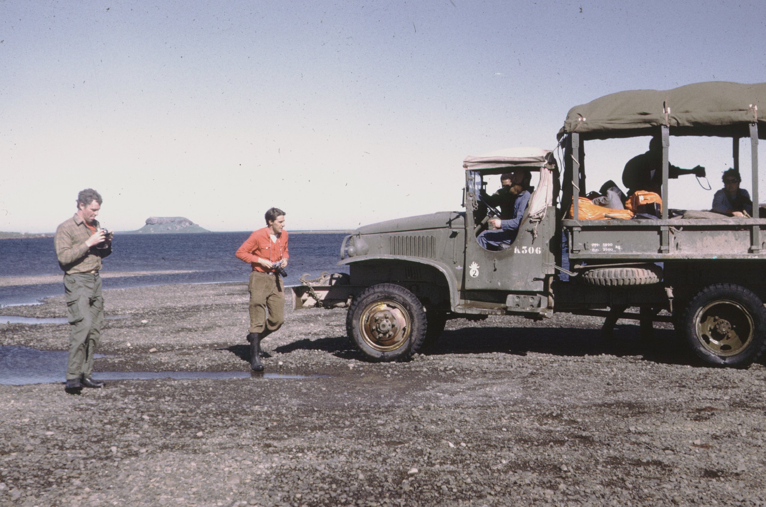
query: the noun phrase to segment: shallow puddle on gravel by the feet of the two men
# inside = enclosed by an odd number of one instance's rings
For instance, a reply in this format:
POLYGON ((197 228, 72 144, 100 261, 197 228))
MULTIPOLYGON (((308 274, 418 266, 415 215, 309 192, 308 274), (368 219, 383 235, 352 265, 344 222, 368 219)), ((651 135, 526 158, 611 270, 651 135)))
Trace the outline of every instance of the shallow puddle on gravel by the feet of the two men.
MULTIPOLYGON (((64 350, 38 350, 0 346, 0 384, 25 385, 64 382, 67 372, 64 350)), ((103 354, 96 354, 103 357, 103 354)), ((93 372, 93 379, 319 379, 329 375, 289 375, 271 372, 93 372)))

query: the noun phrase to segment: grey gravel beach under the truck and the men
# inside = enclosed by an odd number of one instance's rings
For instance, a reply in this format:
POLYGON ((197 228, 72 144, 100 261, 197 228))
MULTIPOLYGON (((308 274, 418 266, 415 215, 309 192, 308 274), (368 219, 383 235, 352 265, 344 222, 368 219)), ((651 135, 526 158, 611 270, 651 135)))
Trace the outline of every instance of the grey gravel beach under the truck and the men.
MULTIPOLYGON (((246 284, 105 298, 123 318, 97 371, 249 372, 246 284)), ((411 361, 372 364, 345 310, 286 306, 264 365, 303 379, 0 385, 0 505, 766 505, 766 368, 702 366, 667 324, 647 344, 626 320, 611 340, 595 317, 450 320, 411 361)), ((0 324, 5 346, 67 337, 0 324)))

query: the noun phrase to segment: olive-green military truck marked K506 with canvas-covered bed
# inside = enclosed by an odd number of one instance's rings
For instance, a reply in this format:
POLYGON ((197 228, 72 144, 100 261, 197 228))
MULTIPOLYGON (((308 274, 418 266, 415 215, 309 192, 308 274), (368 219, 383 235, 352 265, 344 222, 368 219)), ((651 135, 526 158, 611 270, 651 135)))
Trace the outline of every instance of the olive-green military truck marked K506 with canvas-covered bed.
POLYGON ((671 135, 728 137, 738 168, 740 138, 749 138, 758 203, 764 102, 766 83, 715 82, 575 106, 558 132, 561 164, 538 148, 466 158, 465 210, 356 229, 341 245, 339 264, 349 275, 294 288, 296 308, 348 307, 349 338, 372 361, 408 358, 451 318, 569 312, 605 317, 605 332, 617 318, 640 320, 645 335, 653 322, 672 322, 703 361, 748 366, 766 348, 766 219, 669 216, 668 158, 671 135), (582 219, 585 141, 647 135, 663 145, 661 216, 582 219), (539 178, 518 236, 509 248, 483 249, 476 236, 499 214, 482 191, 486 178, 519 168, 539 178), (640 311, 624 314, 629 307, 640 311))

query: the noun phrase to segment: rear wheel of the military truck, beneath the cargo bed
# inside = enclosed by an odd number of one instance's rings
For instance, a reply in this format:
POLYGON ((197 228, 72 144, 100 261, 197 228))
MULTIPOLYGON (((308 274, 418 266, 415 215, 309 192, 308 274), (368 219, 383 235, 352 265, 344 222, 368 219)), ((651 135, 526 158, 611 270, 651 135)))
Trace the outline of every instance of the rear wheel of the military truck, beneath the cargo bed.
POLYGON ((766 309, 740 285, 709 285, 689 301, 678 330, 703 361, 742 368, 766 349, 766 309))

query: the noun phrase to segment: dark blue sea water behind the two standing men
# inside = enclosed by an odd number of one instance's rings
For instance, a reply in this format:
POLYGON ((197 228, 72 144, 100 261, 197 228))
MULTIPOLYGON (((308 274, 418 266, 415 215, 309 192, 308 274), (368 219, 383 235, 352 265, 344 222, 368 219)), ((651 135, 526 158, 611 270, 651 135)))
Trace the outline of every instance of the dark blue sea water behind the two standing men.
MULTIPOLYGON (((103 288, 129 288, 163 284, 246 282, 250 265, 234 252, 250 232, 205 232, 199 234, 116 234, 112 255, 103 261, 108 271, 193 271, 175 275, 146 275, 103 278, 103 288)), ((312 277, 322 271, 348 273, 338 266, 339 233, 290 234, 290 262, 286 285, 300 284, 304 273, 312 277)), ((0 240, 0 277, 62 275, 56 260, 53 238, 0 240)), ((44 297, 63 294, 62 282, 0 287, 0 306, 34 304, 44 297)))

